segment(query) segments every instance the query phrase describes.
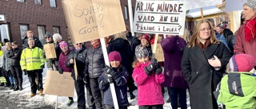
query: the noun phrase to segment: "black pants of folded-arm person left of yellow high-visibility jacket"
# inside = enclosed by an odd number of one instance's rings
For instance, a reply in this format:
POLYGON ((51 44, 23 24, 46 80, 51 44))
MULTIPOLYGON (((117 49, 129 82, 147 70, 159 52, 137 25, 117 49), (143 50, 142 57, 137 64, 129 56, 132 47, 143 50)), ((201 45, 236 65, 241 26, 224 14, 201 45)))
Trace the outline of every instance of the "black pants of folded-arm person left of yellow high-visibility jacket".
POLYGON ((14 83, 15 86, 22 87, 22 68, 21 66, 10 66, 10 72, 14 76, 14 83))

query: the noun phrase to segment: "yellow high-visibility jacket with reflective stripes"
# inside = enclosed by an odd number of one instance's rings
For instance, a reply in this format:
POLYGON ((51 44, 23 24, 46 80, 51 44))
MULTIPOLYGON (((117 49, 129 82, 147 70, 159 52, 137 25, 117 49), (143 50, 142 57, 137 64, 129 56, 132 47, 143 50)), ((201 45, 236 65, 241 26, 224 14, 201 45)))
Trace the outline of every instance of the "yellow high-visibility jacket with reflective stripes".
POLYGON ((37 69, 42 69, 41 66, 46 62, 46 58, 42 49, 38 47, 26 48, 22 50, 22 56, 20 64, 22 70, 33 71, 37 69))

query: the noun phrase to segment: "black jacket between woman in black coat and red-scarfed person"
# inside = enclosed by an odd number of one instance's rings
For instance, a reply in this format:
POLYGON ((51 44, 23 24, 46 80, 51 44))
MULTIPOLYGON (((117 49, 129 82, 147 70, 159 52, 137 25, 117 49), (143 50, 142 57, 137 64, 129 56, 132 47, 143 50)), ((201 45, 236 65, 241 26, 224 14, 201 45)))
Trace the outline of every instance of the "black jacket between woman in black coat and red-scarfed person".
POLYGON ((223 30, 223 36, 226 38, 227 45, 229 46, 229 49, 231 52, 234 51, 234 41, 235 37, 233 32, 230 29, 224 29, 223 30))

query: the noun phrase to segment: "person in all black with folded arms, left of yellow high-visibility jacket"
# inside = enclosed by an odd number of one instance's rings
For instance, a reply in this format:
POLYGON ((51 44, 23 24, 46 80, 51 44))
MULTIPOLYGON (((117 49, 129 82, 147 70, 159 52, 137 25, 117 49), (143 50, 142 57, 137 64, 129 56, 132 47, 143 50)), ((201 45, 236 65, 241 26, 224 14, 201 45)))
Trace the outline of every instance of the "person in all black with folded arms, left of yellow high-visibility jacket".
POLYGON ((17 41, 13 41, 11 43, 12 49, 9 50, 9 53, 7 53, 7 56, 10 58, 10 72, 14 76, 14 91, 22 91, 22 68, 19 64, 19 61, 21 60, 22 50, 18 49, 18 43, 17 41))

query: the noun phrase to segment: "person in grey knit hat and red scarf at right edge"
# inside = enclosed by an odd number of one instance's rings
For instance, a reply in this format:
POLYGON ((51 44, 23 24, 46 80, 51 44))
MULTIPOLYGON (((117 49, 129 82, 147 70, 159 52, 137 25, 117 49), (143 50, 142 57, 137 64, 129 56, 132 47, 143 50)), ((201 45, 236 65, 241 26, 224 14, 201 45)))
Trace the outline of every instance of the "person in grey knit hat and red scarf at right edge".
POLYGON ((234 53, 250 54, 256 59, 256 0, 247 0, 242 14, 246 23, 238 29, 234 53))

